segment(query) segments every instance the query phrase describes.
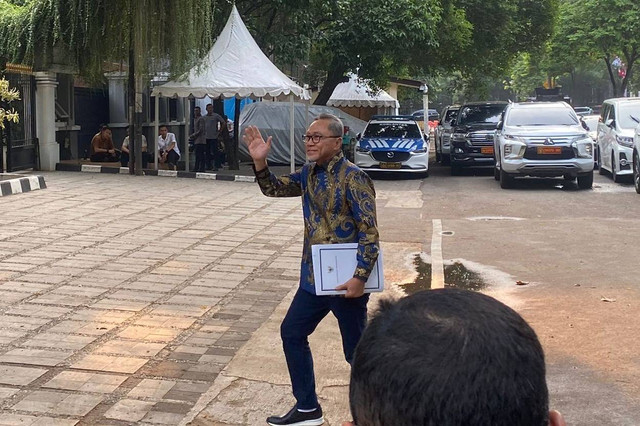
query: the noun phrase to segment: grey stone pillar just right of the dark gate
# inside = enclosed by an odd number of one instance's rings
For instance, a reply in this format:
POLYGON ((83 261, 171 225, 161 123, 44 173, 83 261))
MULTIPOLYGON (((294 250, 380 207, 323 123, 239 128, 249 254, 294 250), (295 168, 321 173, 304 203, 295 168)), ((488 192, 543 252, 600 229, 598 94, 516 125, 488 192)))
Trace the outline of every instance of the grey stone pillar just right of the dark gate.
POLYGON ((60 161, 56 142, 56 73, 36 72, 36 132, 40 145, 40 169, 55 170, 60 161))

